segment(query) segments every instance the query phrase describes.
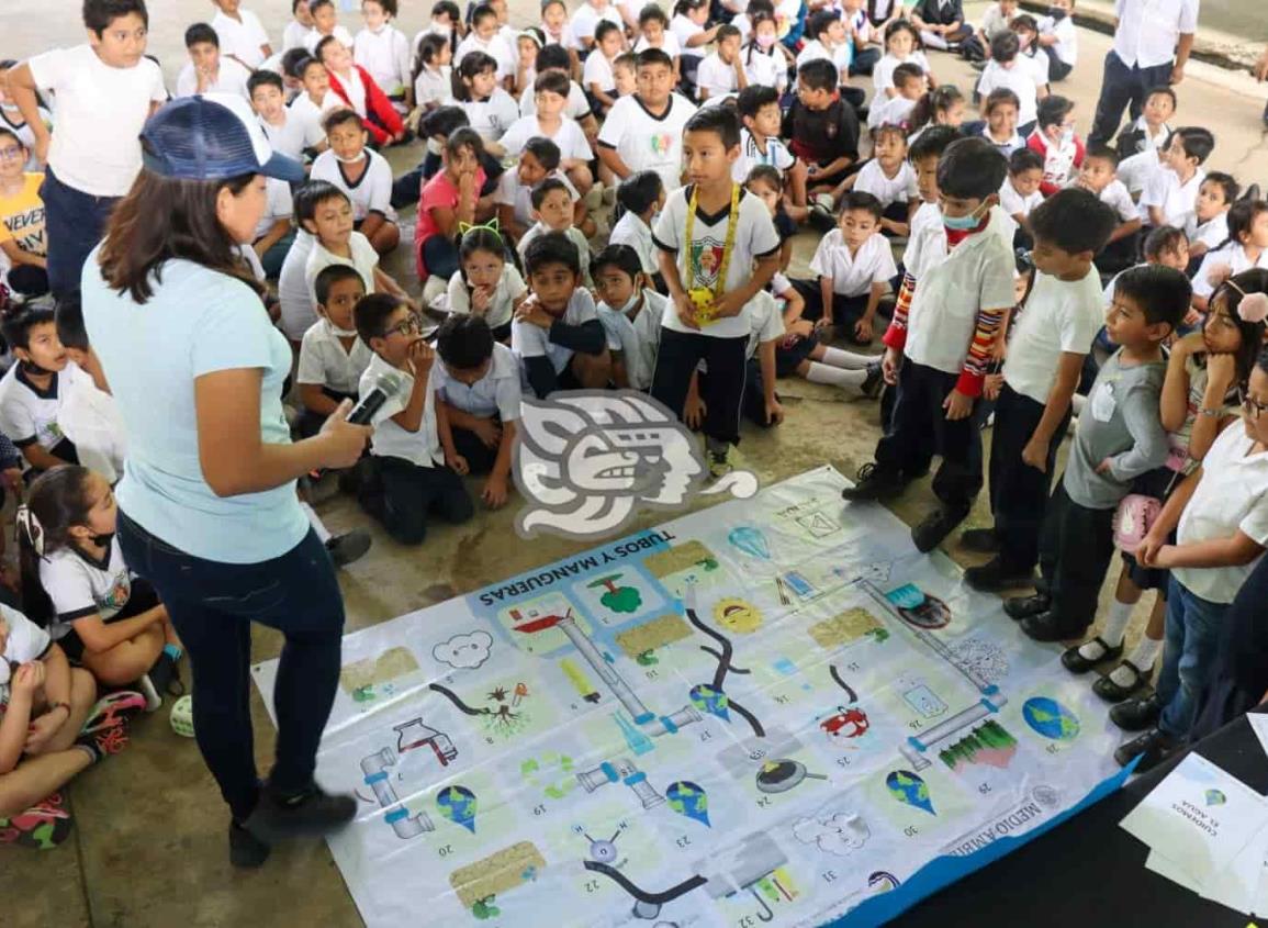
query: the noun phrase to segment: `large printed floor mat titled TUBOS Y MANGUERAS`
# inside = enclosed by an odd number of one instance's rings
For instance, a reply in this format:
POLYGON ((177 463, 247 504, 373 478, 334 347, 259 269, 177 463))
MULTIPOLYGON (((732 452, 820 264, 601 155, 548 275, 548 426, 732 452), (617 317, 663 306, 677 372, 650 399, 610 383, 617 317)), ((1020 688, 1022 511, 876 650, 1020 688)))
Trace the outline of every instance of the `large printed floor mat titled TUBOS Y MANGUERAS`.
POLYGON ((851 925, 1106 780, 1087 682, 844 486, 345 638, 317 776, 359 797, 330 847, 366 924, 851 925))

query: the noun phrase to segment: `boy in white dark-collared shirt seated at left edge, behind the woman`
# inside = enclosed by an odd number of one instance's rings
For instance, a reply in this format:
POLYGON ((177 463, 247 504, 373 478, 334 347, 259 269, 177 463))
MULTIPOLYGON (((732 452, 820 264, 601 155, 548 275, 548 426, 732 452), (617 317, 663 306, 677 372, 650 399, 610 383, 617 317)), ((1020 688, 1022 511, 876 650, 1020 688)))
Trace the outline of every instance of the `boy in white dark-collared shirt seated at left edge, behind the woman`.
POLYGON ((57 425, 66 398, 60 387, 70 359, 57 340, 53 311, 10 304, 0 319, 0 333, 16 359, 0 379, 0 432, 36 470, 79 464, 75 445, 57 425))

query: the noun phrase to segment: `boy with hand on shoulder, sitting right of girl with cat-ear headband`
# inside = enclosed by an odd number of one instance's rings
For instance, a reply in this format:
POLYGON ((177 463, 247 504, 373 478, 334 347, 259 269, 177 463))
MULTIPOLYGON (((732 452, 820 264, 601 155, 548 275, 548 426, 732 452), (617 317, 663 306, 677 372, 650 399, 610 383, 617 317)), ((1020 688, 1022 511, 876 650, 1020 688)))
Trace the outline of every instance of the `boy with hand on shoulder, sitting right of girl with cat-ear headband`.
POLYGON ((611 374, 595 299, 581 285, 581 252, 562 232, 544 232, 524 252, 533 294, 515 311, 511 350, 524 383, 545 399, 559 389, 600 389, 611 374))

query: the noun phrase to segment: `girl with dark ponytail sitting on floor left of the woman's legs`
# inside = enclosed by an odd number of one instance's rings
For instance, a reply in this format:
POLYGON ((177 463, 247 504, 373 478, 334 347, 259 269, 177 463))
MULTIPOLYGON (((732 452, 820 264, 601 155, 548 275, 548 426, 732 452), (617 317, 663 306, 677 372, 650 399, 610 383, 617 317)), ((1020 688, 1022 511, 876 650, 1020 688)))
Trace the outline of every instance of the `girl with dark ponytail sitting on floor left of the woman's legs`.
POLYGON ((180 688, 180 639, 153 587, 128 572, 118 512, 110 484, 87 468, 32 483, 18 515, 23 610, 103 685, 141 681, 152 711, 180 688))

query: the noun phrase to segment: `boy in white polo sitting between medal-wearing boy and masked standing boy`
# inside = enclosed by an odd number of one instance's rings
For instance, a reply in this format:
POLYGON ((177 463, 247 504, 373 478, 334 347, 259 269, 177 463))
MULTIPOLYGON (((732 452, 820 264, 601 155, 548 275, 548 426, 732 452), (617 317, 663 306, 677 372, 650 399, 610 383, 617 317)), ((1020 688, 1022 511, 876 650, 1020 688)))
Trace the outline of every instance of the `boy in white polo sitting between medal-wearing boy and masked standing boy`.
POLYGON ((872 319, 890 279, 898 276, 889 242, 880 233, 884 214, 870 193, 848 191, 841 200, 839 226, 823 237, 810 259, 817 283, 796 281, 805 298, 803 318, 829 317, 855 345, 872 340, 872 319))

